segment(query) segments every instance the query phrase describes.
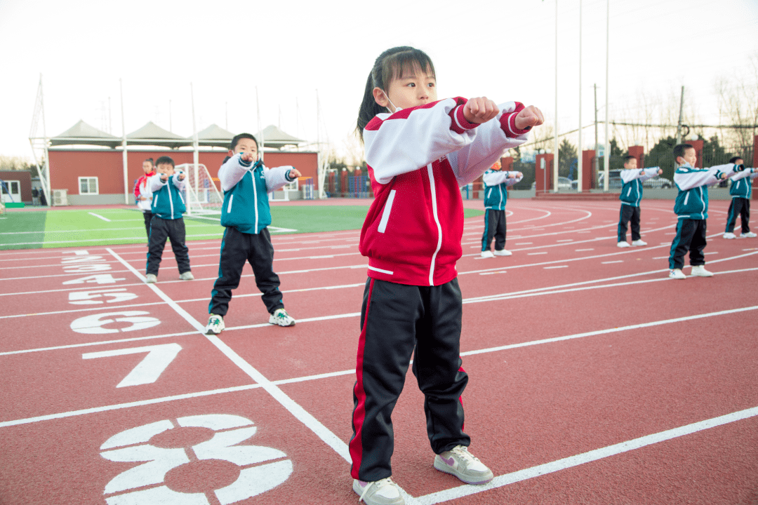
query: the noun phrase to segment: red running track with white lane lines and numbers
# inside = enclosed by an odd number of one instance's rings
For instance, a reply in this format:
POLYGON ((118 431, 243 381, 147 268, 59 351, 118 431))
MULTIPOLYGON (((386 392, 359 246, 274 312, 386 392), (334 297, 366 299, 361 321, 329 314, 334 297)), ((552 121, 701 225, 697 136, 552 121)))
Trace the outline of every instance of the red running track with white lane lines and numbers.
MULTIPOLYGON (((496 478, 432 467, 413 376, 393 415, 411 504, 758 503, 758 239, 721 238, 710 279, 668 279, 672 202, 615 247, 615 202, 509 203, 511 257, 458 263, 471 450, 496 478)), ((273 238, 293 328, 246 267, 206 337, 218 241, 0 252, 0 503, 356 503, 349 477, 359 232, 273 238)), ((688 268, 685 268, 688 273, 688 268)))

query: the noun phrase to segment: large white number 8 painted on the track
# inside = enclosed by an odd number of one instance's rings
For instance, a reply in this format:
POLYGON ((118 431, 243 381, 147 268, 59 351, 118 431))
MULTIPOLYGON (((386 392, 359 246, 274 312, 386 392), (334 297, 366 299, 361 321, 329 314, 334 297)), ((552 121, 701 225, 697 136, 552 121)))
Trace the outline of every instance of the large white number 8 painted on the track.
POLYGON ((105 501, 209 505, 207 494, 212 493, 227 505, 275 488, 292 474, 292 461, 271 447, 236 445, 255 435, 252 425, 249 419, 227 414, 186 416, 112 436, 100 447, 102 457, 144 463, 111 479, 105 501), (197 438, 205 441, 194 443, 197 438))

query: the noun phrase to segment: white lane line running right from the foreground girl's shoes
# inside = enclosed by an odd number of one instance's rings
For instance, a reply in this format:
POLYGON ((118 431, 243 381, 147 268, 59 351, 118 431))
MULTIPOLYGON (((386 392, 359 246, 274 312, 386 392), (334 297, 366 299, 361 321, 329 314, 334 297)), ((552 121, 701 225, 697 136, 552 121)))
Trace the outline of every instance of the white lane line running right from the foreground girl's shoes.
POLYGON ((700 422, 693 422, 692 424, 669 429, 665 432, 653 433, 652 435, 633 438, 619 444, 608 445, 606 447, 600 447, 600 449, 587 451, 586 453, 565 457, 562 460, 551 461, 550 463, 532 466, 531 468, 518 470, 517 472, 506 473, 505 475, 498 475, 495 477, 495 479, 486 485, 467 484, 458 486, 457 488, 425 494, 424 496, 412 498, 412 500, 408 500, 407 503, 408 505, 434 505, 435 503, 443 503, 449 500, 456 500, 457 498, 470 496, 471 494, 483 493, 485 491, 490 491, 490 489, 502 488, 503 486, 510 485, 515 482, 534 479, 540 475, 559 472, 560 470, 572 468, 573 466, 584 465, 585 463, 602 460, 606 457, 623 454, 629 450, 640 449, 641 447, 659 444, 664 441, 672 440, 673 438, 679 438, 683 437, 684 435, 691 435, 693 433, 701 432, 706 429, 716 428, 716 426, 722 426, 729 424, 730 422, 738 422, 743 419, 750 419, 750 417, 754 416, 758 416, 758 407, 739 410, 738 412, 729 413, 725 416, 713 417, 711 419, 705 419, 704 421, 700 422))

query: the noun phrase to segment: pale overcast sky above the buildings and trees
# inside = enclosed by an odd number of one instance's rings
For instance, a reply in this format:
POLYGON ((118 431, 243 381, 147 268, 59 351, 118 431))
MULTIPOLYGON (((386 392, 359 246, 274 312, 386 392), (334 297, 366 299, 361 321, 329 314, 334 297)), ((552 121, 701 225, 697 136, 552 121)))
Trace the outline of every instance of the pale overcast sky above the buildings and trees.
MULTIPOLYGON (((578 126, 579 5, 558 2, 559 131, 578 126)), ((606 0, 581 0, 582 123, 605 117, 606 0)), ((277 124, 340 150, 384 49, 430 55, 439 97, 518 100, 555 117, 556 0, 468 2, 163 2, 0 0, 0 154, 31 156, 39 75, 48 136, 78 120, 121 136, 148 121, 182 136, 277 124), (169 113, 171 103, 171 114, 169 113), (228 120, 227 120, 228 117, 228 120)), ((717 121, 716 79, 758 57, 758 0, 610 0, 610 118, 641 95, 717 121)), ((585 130, 590 147, 592 130, 585 130)), ((603 142, 602 136, 600 142, 603 142)))

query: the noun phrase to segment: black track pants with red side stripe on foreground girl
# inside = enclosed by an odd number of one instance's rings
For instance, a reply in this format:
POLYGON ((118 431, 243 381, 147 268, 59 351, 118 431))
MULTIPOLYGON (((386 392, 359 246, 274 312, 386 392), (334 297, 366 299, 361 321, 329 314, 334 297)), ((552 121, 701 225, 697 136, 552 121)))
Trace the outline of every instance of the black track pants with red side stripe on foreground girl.
POLYGON ((412 354, 432 450, 440 454, 471 443, 463 432, 460 399, 468 382, 461 368, 461 313, 458 279, 440 286, 366 282, 352 393, 349 450, 354 479, 377 481, 392 475, 391 416, 412 354))

